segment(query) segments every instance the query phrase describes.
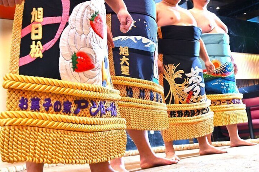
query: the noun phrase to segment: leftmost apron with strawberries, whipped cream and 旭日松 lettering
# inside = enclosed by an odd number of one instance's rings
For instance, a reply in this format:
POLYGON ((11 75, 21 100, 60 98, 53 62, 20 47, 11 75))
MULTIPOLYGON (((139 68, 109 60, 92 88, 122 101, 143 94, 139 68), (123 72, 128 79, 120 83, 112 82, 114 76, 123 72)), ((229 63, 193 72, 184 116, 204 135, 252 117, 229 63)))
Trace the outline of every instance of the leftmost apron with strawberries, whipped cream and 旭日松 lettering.
POLYGON ((126 121, 111 84, 104 0, 17 5, 2 161, 100 163, 126 149, 126 121))

